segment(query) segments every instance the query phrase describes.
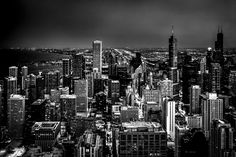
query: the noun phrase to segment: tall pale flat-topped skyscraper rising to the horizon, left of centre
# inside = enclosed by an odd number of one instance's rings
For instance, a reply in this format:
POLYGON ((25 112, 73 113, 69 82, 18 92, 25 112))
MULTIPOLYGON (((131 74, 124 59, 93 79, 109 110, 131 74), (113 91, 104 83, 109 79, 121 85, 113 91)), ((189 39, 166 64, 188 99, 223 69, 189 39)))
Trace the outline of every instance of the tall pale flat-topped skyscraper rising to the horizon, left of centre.
POLYGON ((93 68, 102 72, 102 41, 93 41, 93 68))

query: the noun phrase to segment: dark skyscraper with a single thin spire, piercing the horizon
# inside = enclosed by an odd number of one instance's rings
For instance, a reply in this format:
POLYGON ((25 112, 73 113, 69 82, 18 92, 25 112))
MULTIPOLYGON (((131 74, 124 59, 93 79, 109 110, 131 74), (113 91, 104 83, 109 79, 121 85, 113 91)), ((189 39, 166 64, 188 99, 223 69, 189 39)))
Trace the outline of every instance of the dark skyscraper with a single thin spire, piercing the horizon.
POLYGON ((169 38, 169 67, 177 67, 177 39, 174 36, 173 26, 169 38))

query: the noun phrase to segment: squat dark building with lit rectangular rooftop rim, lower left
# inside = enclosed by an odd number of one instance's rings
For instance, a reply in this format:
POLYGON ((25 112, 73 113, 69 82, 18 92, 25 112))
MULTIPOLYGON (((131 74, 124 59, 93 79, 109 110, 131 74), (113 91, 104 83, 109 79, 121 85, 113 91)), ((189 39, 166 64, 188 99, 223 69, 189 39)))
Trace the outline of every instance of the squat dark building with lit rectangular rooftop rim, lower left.
POLYGON ((60 128, 60 122, 36 122, 32 126, 35 144, 40 146, 42 151, 50 151, 56 143, 60 128))

